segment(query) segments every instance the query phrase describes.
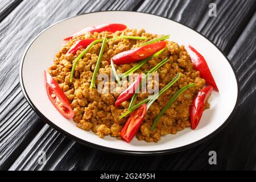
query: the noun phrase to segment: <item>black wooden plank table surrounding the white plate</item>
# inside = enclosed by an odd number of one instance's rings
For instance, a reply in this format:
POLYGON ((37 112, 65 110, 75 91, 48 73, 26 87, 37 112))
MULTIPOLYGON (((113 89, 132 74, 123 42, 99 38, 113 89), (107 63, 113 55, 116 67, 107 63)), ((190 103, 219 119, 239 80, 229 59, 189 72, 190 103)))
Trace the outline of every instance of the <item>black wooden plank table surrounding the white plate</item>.
POLYGON ((255 0, 0 0, 0 169, 256 169, 255 9, 255 0), (209 16, 212 2, 217 16, 209 16), (229 125, 187 151, 129 156, 82 146, 44 123, 20 89, 18 73, 24 49, 52 23, 103 10, 161 15, 212 40, 230 59, 241 85, 240 104, 229 125), (42 151, 46 152, 44 164, 38 160, 42 151), (217 165, 208 163, 209 151, 217 152, 217 165))

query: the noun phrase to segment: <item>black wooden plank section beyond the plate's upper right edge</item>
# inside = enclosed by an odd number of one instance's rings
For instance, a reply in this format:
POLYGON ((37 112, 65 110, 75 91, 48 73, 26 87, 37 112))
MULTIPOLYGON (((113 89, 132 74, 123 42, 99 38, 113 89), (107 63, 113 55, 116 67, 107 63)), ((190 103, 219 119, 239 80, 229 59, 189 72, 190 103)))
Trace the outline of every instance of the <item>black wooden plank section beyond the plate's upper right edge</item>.
POLYGON ((228 55, 256 10, 256 1, 153 1, 146 0, 138 11, 153 13, 184 23, 207 36, 228 55), (217 16, 209 16, 209 3, 216 3, 217 16))

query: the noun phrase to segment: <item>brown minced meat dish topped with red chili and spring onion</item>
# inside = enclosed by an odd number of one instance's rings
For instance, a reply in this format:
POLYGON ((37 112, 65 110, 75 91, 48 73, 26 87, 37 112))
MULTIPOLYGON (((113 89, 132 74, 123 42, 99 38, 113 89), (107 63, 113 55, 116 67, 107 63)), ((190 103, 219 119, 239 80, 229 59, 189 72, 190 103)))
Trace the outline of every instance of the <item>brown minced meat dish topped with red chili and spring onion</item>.
POLYGON ((44 72, 48 97, 64 117, 101 138, 158 142, 186 127, 196 129, 218 88, 195 48, 168 39, 123 24, 85 28, 64 39, 44 72), (107 89, 99 92, 101 74, 115 79, 104 81, 107 89), (158 92, 142 92, 145 83, 158 92))

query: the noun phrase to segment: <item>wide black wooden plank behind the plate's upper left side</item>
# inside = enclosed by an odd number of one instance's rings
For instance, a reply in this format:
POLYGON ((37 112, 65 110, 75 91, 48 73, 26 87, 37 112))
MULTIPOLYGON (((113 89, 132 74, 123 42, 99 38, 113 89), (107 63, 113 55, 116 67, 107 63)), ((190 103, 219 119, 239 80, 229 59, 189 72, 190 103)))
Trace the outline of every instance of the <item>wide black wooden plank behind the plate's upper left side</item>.
POLYGON ((61 19, 101 9, 132 10, 139 3, 129 2, 130 6, 127 0, 75 0, 69 2, 67 9, 65 0, 25 0, 0 23, 0 169, 9 168, 44 126, 19 88, 19 61, 27 44, 44 28, 61 19))

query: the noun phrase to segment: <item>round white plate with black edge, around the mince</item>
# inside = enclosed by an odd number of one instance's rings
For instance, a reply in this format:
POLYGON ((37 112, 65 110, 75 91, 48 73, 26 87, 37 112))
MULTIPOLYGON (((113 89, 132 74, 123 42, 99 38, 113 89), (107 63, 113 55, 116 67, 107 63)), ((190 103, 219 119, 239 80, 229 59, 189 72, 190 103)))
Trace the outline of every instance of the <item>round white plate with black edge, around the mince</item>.
POLYGON ((208 39, 191 28, 156 15, 129 11, 104 11, 83 14, 62 20, 41 32, 28 46, 20 65, 20 85, 36 113, 64 135, 88 146, 129 154, 165 154, 185 150, 220 131, 232 117, 237 106, 238 84, 229 60, 208 39), (131 143, 113 137, 99 138, 92 132, 76 127, 72 119, 62 117, 48 100, 43 71, 52 65, 55 54, 64 44, 63 38, 84 27, 106 23, 123 23, 129 28, 144 28, 155 34, 171 34, 171 40, 180 45, 191 44, 207 60, 220 92, 210 97, 196 130, 189 128, 176 135, 162 137, 158 143, 134 139, 131 143))

